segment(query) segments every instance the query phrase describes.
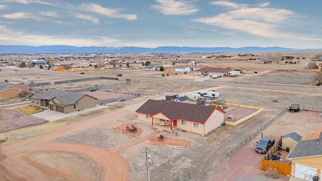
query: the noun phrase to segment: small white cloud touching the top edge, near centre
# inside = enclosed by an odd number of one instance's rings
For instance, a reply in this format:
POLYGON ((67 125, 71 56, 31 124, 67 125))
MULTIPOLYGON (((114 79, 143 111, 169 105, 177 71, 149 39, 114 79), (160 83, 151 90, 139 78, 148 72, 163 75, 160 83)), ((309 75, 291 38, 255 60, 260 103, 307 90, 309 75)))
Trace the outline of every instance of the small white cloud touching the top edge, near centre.
POLYGON ((191 2, 176 0, 156 0, 157 5, 150 8, 158 10, 164 15, 191 15, 199 11, 191 2))

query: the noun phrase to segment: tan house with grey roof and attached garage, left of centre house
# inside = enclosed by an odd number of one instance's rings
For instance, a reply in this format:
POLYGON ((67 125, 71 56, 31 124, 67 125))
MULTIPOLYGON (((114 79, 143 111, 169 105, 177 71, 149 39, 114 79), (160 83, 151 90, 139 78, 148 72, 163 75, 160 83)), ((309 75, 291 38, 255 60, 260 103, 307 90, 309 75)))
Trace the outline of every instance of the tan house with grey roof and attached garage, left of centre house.
POLYGON ((52 111, 70 113, 96 107, 96 98, 85 94, 50 89, 30 96, 32 106, 49 108, 52 111))

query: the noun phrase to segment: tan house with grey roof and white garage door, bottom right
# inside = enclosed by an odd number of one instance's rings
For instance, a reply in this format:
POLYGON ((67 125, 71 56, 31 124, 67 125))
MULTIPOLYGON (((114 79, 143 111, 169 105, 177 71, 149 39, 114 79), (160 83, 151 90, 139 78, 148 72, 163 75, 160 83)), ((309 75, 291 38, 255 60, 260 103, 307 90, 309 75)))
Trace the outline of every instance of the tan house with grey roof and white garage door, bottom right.
POLYGON ((312 180, 322 175, 322 132, 318 139, 299 141, 287 156, 292 161, 291 176, 312 180))

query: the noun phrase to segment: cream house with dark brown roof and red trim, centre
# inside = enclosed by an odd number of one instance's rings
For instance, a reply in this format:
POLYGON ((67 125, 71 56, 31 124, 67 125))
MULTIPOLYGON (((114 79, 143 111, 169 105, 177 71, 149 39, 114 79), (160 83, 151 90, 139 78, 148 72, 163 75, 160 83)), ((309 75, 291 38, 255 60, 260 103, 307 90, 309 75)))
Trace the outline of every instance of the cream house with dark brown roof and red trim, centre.
POLYGON ((147 100, 139 109, 138 120, 206 135, 224 121, 224 111, 215 106, 147 100))

